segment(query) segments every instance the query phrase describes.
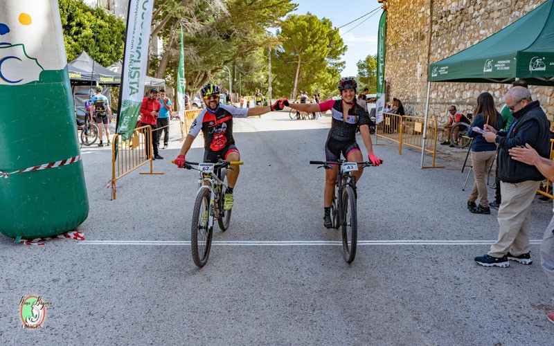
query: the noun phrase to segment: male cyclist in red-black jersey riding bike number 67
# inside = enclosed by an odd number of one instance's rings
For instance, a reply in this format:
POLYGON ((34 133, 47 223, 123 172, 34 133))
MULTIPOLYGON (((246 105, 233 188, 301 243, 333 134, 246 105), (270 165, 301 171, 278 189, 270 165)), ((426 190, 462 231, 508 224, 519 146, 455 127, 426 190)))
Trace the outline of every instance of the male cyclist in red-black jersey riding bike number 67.
MULTIPOLYGON (((193 121, 181 152, 175 159, 175 165, 179 168, 183 167, 186 153, 200 130, 204 135, 204 162, 217 163, 220 158, 226 161, 240 161, 240 152, 233 138, 233 118, 261 116, 269 111, 279 111, 284 107, 284 99, 266 107, 238 108, 220 104, 220 86, 211 83, 206 84, 200 93, 206 108, 202 109, 193 121)), ((237 183, 239 167, 232 165, 227 171, 228 187, 225 191, 224 210, 233 208, 233 189, 237 183)))

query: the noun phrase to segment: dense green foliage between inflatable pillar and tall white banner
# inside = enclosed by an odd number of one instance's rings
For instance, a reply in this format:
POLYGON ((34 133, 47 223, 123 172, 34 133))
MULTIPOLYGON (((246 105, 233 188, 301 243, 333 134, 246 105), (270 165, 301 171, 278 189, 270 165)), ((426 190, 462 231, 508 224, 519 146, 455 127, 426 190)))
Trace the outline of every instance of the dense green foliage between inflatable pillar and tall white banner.
POLYGON ((82 51, 102 66, 123 58, 125 23, 122 19, 100 8, 90 8, 82 1, 59 0, 58 3, 68 62, 82 51))

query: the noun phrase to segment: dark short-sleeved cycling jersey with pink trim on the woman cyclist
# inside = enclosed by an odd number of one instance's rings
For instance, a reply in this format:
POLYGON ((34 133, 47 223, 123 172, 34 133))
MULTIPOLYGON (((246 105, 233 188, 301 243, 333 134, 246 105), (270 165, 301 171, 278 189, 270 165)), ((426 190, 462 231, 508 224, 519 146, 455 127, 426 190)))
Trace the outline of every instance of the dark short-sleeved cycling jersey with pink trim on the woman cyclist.
POLYGON ((348 116, 343 121, 342 100, 328 100, 319 104, 322 112, 331 110, 332 122, 328 138, 334 138, 341 142, 356 140, 356 129, 361 125, 369 125, 369 116, 357 103, 348 109, 348 116))

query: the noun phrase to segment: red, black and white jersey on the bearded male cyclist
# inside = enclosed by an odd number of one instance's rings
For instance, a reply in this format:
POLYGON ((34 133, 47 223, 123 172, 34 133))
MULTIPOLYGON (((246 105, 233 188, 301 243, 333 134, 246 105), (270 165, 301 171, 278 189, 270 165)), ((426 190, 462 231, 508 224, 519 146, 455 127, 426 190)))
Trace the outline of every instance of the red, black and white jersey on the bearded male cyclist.
POLYGON ((204 108, 193 121, 188 134, 196 137, 202 130, 204 149, 219 152, 225 147, 235 144, 233 117, 246 118, 247 114, 247 108, 238 108, 226 104, 220 104, 215 111, 204 108))

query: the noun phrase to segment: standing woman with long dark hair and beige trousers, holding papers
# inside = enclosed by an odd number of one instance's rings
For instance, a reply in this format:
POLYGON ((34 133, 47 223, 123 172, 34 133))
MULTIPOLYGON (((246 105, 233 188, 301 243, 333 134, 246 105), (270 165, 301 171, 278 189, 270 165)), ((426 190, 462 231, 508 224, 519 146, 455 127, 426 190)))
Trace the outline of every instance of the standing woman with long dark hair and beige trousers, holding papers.
POLYGON ((473 119, 467 135, 473 138, 472 142, 472 167, 474 174, 474 183, 470 198, 467 200, 467 209, 474 214, 490 214, 489 202, 487 199, 487 184, 485 183, 485 174, 488 167, 494 161, 497 153, 497 145, 488 143, 479 132, 474 131, 474 127, 483 129, 485 123, 494 129, 502 127, 502 116, 494 108, 494 100, 490 93, 481 93, 477 98, 477 107, 474 110, 476 116, 473 119), (479 206, 475 201, 479 199, 479 206))

